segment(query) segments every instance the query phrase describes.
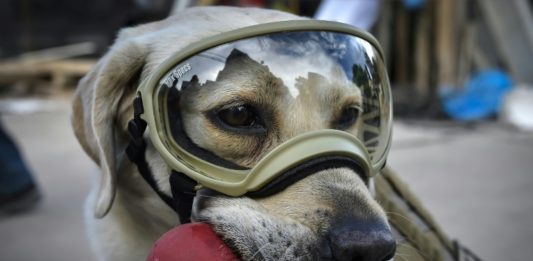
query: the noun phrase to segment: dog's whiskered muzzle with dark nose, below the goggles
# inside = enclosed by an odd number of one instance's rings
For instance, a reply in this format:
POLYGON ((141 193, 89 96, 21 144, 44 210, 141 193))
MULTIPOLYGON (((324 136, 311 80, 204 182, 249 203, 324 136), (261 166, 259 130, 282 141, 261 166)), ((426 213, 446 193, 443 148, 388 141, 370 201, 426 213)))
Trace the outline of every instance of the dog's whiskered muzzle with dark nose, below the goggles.
POLYGON ((193 220, 210 224, 241 260, 389 260, 395 244, 386 219, 375 214, 379 207, 368 195, 356 195, 368 190, 364 177, 352 159, 316 158, 243 197, 199 190, 193 220), (357 188, 345 190, 352 186, 357 188), (314 203, 318 194, 311 191, 317 189, 331 193, 314 203), (280 196, 285 200, 273 201, 285 203, 276 209, 264 202, 280 196), (304 201, 310 203, 302 206, 304 201))

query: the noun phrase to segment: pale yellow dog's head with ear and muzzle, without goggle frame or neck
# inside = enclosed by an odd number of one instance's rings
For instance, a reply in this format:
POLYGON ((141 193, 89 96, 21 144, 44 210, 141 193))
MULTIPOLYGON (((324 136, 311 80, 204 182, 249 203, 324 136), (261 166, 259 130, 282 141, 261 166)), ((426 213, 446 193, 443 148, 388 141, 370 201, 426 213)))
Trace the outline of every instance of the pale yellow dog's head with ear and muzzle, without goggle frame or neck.
MULTIPOLYGON (((121 182, 131 184, 127 179, 138 179, 123 153, 129 142, 126 126, 137 86, 163 60, 221 32, 295 19, 302 18, 257 9, 204 8, 124 30, 82 80, 74 102, 76 135, 102 168, 96 216, 107 213, 121 182), (117 177, 119 173, 125 176, 117 177)), ((311 63, 305 59, 310 58, 304 56, 300 62, 311 63)), ((179 122, 168 120, 171 126, 166 130, 185 136, 173 138, 190 143, 187 146, 208 152, 197 153, 203 160, 253 169, 277 147, 304 133, 333 128, 361 139, 365 136, 363 121, 371 121, 372 116, 363 115, 361 107, 372 104, 363 104, 365 94, 357 80, 344 80, 346 68, 319 59, 321 66, 289 80, 295 86, 290 89, 283 72, 275 72, 274 67, 291 61, 273 65, 239 50, 232 50, 223 60, 216 79, 192 77, 179 93, 162 95, 162 111, 175 113, 167 117, 179 122), (179 131, 173 131, 176 126, 179 131)), ((287 70, 299 70, 287 66, 287 70)), ((356 71, 351 73, 357 78, 356 71)), ((171 167, 158 149, 148 141, 146 160, 159 189, 171 195, 171 167)), ((372 197, 366 168, 327 160, 306 162, 298 165, 301 168, 293 167, 291 177, 307 174, 289 178, 291 182, 274 189, 275 193, 230 197, 200 189, 193 220, 211 224, 244 260, 392 259, 394 239, 385 213, 372 197)))

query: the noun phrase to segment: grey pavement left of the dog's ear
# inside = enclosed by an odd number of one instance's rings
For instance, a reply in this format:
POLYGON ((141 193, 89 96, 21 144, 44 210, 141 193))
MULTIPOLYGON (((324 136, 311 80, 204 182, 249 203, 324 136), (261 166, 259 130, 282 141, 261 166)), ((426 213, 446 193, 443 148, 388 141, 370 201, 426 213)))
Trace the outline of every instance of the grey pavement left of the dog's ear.
MULTIPOLYGON (((83 202, 96 166, 70 128, 68 99, 46 110, 3 113, 44 195, 30 213, 0 218, 0 260, 94 260, 83 223, 83 202)), ((1 113, 1 112, 0 112, 1 113)))

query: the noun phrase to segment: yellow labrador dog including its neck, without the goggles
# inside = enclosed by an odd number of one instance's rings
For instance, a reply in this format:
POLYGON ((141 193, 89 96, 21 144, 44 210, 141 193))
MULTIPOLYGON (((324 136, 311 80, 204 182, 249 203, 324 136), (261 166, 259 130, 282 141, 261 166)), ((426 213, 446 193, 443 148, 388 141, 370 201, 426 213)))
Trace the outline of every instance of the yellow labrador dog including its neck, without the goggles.
MULTIPOLYGON (((91 246, 100 260, 144 260, 154 242, 179 225, 175 212, 124 153, 139 84, 188 44, 249 25, 297 19, 305 18, 272 10, 191 8, 120 32, 109 52, 81 80, 73 102, 75 134, 101 172, 85 207, 91 246)), ((232 66, 236 70, 228 67, 225 80, 234 88, 264 78, 258 64, 232 66), (241 73, 232 74, 235 71, 241 73)), ((292 107, 272 101, 291 113, 278 114, 282 117, 278 135, 266 137, 268 142, 259 146, 246 136, 227 135, 205 120, 209 115, 202 108, 217 103, 219 96, 194 91, 183 95, 188 99, 180 108, 183 121, 194 123, 185 124, 192 127, 184 131, 192 142, 241 166, 253 165, 289 137, 330 122, 325 118, 330 113, 324 111, 331 104, 326 103, 342 100, 309 98, 292 107)), ((261 95, 268 101, 270 94, 261 95)), ((354 100, 358 95, 349 93, 354 100)), ((150 141, 146 161, 159 189, 171 195, 170 168, 150 141)), ((324 169, 263 198, 199 193, 192 219, 209 223, 242 260, 391 260, 395 242, 386 215, 373 199, 372 181, 359 174, 351 168, 324 169)))

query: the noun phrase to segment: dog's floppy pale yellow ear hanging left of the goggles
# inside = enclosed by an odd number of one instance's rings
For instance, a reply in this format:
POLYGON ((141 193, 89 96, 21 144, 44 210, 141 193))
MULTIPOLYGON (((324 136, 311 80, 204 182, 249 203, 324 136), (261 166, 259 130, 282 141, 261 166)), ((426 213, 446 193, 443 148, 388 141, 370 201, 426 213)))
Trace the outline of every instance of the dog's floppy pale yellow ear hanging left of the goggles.
POLYGON ((118 119, 119 106, 123 97, 135 92, 145 57, 146 48, 142 44, 119 37, 81 79, 75 93, 74 133, 85 152, 101 168, 94 206, 97 218, 109 212, 115 197, 117 157, 122 155, 117 149, 117 129, 123 128, 118 119))

